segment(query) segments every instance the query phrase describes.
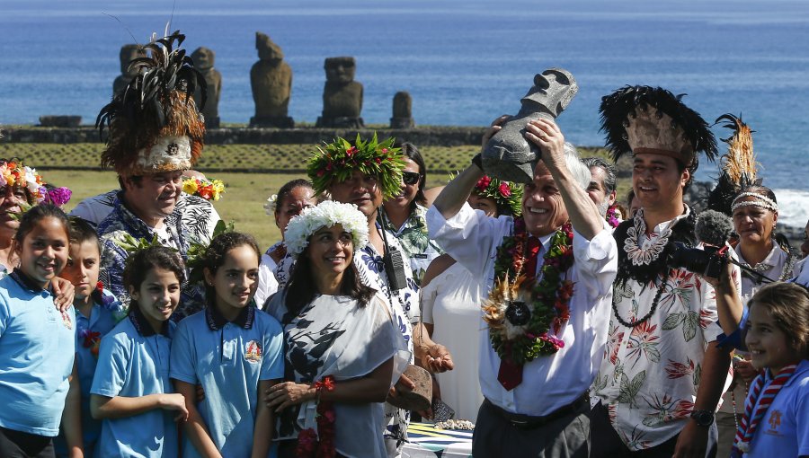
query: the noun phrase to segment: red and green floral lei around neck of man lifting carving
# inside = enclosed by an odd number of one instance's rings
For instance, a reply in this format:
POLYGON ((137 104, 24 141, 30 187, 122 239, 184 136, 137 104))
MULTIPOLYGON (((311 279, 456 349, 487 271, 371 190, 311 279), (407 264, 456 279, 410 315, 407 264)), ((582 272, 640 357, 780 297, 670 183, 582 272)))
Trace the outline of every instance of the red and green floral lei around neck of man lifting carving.
MULTIPOLYGON (((528 232, 522 218, 514 220, 514 235, 503 237, 497 248, 494 261, 494 276, 500 281, 507 280, 513 273, 519 281, 526 262, 528 232)), ((548 332, 558 333, 570 319, 570 298, 573 295, 573 282, 564 280, 563 275, 573 266, 573 230, 566 223, 554 233, 550 249, 544 256, 540 271, 541 279, 530 287, 530 315, 525 332, 515 339, 506 339, 501 326, 490 327, 492 346, 502 359, 522 365, 543 355, 553 355, 565 342, 548 332)), ((493 296, 490 295, 490 299, 493 296)), ((508 315, 508 313, 505 313, 508 315)), ((508 317, 502 318, 508 320, 508 317)), ((488 320, 487 320, 488 321, 488 320)), ((493 324, 490 322, 490 324, 493 324)))

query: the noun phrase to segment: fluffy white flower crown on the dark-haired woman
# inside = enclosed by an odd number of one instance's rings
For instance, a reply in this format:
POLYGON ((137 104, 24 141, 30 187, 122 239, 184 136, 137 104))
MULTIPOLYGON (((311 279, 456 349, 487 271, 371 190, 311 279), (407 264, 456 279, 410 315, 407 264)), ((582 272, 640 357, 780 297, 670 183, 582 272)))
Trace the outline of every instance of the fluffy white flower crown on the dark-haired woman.
POLYGON ((309 237, 322 227, 342 225, 342 230, 351 233, 354 251, 368 244, 368 218, 357 206, 325 200, 316 207, 304 208, 300 215, 289 220, 284 233, 284 244, 293 258, 306 250, 309 237))

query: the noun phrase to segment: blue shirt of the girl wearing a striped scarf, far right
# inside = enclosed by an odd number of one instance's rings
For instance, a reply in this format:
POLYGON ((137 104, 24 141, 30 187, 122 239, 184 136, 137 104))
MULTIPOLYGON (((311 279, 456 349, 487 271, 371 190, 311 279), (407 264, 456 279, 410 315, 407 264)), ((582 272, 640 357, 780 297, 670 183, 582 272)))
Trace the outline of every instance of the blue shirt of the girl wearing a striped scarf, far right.
MULTIPOLYGON (((767 390, 772 377, 761 392, 767 390)), ((756 411, 755 407, 752 411, 756 411)), ((804 456, 809 455, 809 361, 803 360, 795 373, 781 387, 769 409, 761 418, 750 452, 743 456, 804 456)))

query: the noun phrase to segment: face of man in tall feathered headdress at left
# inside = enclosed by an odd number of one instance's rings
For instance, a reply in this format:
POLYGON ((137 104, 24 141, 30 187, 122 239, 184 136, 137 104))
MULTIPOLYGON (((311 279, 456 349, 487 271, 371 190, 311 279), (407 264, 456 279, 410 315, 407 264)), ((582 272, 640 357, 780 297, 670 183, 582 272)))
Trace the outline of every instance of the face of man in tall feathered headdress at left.
POLYGON ((139 183, 127 177, 124 188, 130 209, 154 227, 174 211, 182 192, 182 171, 147 173, 139 183))

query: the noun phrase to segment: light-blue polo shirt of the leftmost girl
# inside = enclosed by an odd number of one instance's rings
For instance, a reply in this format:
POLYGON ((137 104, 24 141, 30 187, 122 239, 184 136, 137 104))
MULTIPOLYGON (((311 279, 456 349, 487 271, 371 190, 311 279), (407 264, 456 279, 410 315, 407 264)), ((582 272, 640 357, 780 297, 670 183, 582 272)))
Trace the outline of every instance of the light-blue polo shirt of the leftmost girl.
POLYGON ((19 270, 0 279, 0 427, 57 436, 73 371, 76 316, 19 270))

